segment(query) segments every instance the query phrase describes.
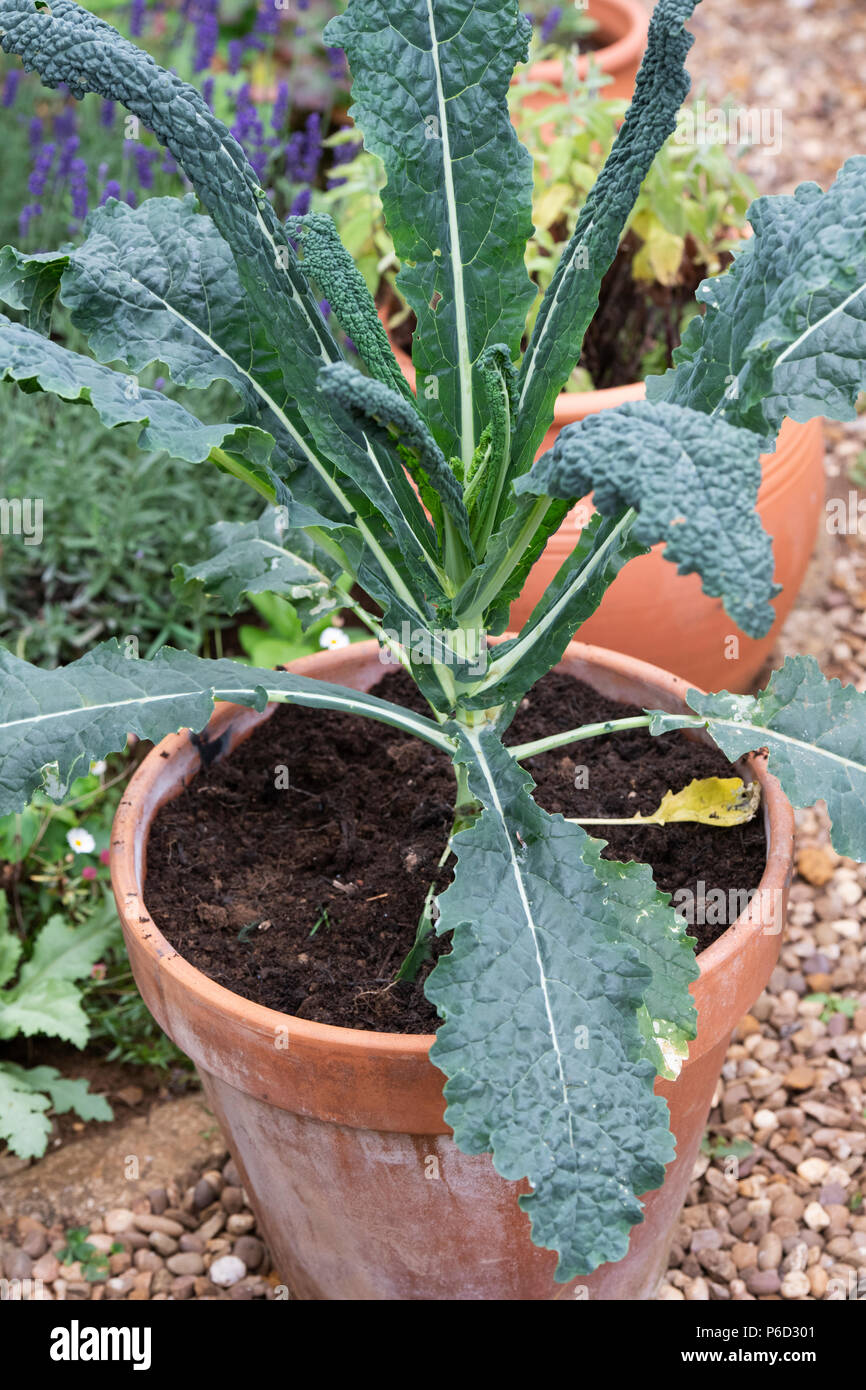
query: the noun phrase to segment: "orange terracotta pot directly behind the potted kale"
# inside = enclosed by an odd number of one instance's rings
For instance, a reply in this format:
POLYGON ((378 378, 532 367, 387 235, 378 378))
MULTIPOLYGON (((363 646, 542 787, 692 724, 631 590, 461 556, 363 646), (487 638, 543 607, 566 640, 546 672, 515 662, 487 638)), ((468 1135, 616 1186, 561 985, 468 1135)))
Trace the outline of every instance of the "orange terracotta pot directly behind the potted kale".
MULTIPOLYGON (((553 445, 564 425, 627 400, 641 400, 644 395, 642 382, 613 391, 564 392, 556 402, 542 450, 553 445)), ((785 420, 776 453, 763 457, 758 496, 760 518, 773 537, 776 582, 783 585, 774 600, 776 623, 766 637, 755 641, 740 632, 721 599, 708 598, 696 574, 678 574, 664 559, 663 546, 655 546, 621 570, 601 606, 582 624, 581 639, 653 662, 705 689, 748 689, 773 651, 803 582, 824 513, 824 489, 822 421, 801 425, 785 420)), ((584 502, 550 538, 512 605, 510 627, 520 628, 527 621, 589 514, 584 502)))

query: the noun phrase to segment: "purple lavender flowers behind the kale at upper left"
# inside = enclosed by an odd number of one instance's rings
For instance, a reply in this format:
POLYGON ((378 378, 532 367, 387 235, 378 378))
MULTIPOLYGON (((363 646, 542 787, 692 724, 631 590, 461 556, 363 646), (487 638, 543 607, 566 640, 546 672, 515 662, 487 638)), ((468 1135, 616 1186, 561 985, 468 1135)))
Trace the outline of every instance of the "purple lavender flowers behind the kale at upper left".
MULTIPOLYGON (((272 192, 278 210, 306 213, 314 185, 339 181, 329 177, 329 165, 348 158, 352 149, 339 146, 341 153, 331 154, 325 147, 329 113, 304 106, 310 97, 297 63, 289 65, 288 78, 277 76, 277 39, 285 26, 268 0, 260 0, 252 21, 231 25, 231 38, 221 32, 217 0, 183 0, 178 11, 145 0, 114 8, 125 18, 128 33, 142 38, 158 60, 170 61, 200 86, 272 192), (265 76, 263 85, 253 82, 253 67, 265 76)), ((321 26, 334 6, 324 17, 307 11, 309 4, 297 11, 295 32, 300 29, 307 49, 327 58, 321 26), (307 29, 300 22, 307 18, 318 28, 307 29)), ((334 58, 328 61, 334 71, 334 58)), ((25 246, 78 235, 88 211, 110 197, 135 207, 143 197, 189 190, 171 153, 160 149, 138 120, 125 120, 117 103, 90 97, 76 113, 78 103, 65 83, 58 83, 60 97, 49 101, 39 83, 21 79, 19 68, 6 71, 0 106, 10 113, 15 132, 7 152, 8 186, 26 182, 28 189, 19 208, 10 199, 6 217, 10 229, 17 217, 18 239, 25 246)))

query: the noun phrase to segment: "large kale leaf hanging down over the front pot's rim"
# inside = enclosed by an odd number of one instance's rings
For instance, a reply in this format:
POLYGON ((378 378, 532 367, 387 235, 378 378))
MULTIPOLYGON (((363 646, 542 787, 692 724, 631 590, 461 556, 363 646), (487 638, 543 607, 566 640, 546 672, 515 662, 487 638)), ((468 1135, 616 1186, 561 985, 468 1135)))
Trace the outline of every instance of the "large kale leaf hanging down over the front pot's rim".
POLYGON ((453 944, 427 984, 445 1017, 431 1061, 449 1077, 459 1147, 530 1179, 520 1205, 532 1240, 559 1251, 567 1282, 621 1259, 642 1219, 635 1194, 674 1158, 652 1093, 656 1038, 695 1034, 694 952, 649 870, 606 865, 598 841, 541 810, 495 735, 467 733, 457 756, 484 810, 455 837, 455 881, 439 899, 436 930, 453 944), (656 1006, 646 1036, 641 1009, 656 1006))

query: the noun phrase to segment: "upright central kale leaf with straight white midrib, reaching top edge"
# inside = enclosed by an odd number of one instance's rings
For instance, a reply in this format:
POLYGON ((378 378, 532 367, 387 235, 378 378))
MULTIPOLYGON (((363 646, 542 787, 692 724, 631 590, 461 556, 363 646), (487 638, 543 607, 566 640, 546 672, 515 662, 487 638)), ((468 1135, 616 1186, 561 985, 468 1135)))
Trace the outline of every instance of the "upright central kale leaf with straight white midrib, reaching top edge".
POLYGON ((528 38, 517 0, 354 0, 325 31, 346 50, 352 114, 388 172, 382 204, 418 325, 418 406, 464 468, 484 428, 478 359, 496 343, 517 356, 534 297, 524 267, 532 170, 506 100, 528 38), (496 196, 480 199, 493 183, 496 196))

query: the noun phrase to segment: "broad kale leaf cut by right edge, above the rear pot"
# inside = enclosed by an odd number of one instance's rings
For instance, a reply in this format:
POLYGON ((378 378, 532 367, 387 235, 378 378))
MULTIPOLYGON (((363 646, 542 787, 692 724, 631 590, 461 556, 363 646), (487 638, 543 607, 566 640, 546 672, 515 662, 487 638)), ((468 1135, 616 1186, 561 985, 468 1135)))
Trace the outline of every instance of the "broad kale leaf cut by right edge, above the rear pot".
POLYGON ((855 420, 866 386, 866 157, 826 193, 760 197, 727 275, 705 281, 674 368, 653 400, 692 406, 771 441, 785 416, 855 420))

